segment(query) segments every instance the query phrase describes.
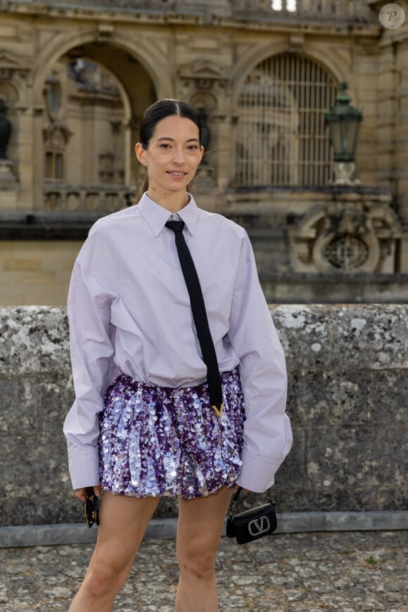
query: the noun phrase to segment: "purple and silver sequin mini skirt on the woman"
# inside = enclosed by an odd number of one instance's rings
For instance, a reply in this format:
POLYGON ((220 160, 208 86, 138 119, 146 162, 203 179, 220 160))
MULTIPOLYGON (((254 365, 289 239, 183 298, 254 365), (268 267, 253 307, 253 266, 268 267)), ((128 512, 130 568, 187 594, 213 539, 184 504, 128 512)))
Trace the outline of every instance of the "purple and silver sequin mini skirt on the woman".
POLYGON ((146 385, 120 374, 100 413, 103 490, 132 497, 205 497, 241 471, 244 407, 238 369, 221 375, 224 410, 208 385, 146 385))

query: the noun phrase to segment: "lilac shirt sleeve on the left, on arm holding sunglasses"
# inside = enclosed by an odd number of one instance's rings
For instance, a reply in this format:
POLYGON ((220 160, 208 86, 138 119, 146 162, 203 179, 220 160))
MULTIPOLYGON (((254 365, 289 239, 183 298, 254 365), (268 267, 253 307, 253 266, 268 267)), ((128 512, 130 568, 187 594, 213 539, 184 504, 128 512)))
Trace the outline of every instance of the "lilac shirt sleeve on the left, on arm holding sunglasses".
MULTIPOLYGON (((94 259, 91 257, 90 261, 94 259)), ((64 424, 74 489, 99 483, 98 412, 103 409, 102 396, 115 371, 115 331, 110 325, 112 300, 113 295, 100 286, 91 265, 86 261, 81 263, 78 258, 68 294, 70 356, 76 399, 64 424)))

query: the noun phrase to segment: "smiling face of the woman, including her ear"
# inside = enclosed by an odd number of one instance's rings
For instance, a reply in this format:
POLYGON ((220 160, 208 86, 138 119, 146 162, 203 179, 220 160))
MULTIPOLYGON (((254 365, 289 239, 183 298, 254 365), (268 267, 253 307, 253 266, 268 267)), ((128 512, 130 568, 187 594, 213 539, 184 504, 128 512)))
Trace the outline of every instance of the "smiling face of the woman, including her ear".
POLYGON ((144 149, 136 144, 136 157, 148 168, 149 191, 186 191, 203 158, 198 127, 190 119, 170 115, 158 122, 144 149))

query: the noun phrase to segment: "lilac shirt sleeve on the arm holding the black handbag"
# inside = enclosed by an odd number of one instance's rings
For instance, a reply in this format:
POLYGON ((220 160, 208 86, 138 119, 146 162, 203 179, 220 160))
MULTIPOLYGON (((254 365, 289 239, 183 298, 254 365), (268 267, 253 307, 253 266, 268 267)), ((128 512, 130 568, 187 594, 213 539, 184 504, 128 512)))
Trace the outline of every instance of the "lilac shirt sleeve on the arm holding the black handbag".
POLYGON ((240 359, 246 407, 238 485, 262 492, 272 486, 274 474, 291 450, 292 432, 285 412, 285 358, 247 235, 241 249, 228 335, 240 359))

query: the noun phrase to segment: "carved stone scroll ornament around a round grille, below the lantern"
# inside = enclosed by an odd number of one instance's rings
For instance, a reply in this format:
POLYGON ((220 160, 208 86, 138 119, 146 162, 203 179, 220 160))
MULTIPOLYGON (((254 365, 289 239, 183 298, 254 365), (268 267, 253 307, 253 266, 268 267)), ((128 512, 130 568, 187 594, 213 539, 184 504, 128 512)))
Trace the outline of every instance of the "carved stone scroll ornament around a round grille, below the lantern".
POLYGON ((333 202, 314 208, 289 230, 296 272, 374 273, 393 268, 400 222, 388 204, 333 202), (386 247, 386 248, 385 248, 386 247))

